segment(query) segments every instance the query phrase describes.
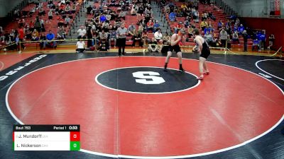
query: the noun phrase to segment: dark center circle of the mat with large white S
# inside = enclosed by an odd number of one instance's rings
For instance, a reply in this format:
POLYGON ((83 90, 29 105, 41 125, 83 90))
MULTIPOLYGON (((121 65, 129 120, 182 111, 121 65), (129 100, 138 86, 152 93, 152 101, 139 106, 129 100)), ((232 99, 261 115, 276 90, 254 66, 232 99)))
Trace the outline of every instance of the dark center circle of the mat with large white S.
POLYGON ((111 90, 126 93, 176 93, 197 87, 200 81, 189 72, 160 67, 137 66, 111 69, 99 73, 95 81, 111 90))

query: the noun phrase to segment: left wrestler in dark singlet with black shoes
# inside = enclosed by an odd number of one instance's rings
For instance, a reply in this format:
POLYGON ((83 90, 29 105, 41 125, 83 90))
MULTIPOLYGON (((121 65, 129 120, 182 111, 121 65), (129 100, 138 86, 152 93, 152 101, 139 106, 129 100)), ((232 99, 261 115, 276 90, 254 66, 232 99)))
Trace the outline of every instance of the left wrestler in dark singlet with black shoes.
POLYGON ((170 60, 170 57, 173 54, 173 50, 175 50, 175 52, 177 52, 178 54, 178 60, 180 63, 180 71, 185 71, 182 68, 182 51, 180 50, 180 41, 182 40, 182 33, 178 32, 172 35, 172 37, 170 37, 170 47, 168 49, 168 55, 165 58, 165 67, 164 67, 164 71, 167 71, 167 67, 168 67, 168 62, 170 60))

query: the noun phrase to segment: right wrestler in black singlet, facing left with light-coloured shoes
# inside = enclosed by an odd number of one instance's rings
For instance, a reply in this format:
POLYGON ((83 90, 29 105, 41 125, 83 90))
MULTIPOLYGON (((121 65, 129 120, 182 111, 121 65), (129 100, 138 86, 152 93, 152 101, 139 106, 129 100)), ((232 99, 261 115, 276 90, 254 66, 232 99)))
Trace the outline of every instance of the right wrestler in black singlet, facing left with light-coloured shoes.
POLYGON ((199 61, 199 69, 200 69, 200 76, 197 80, 202 80, 204 78, 204 74, 209 75, 209 70, 206 64, 206 59, 210 55, 209 45, 207 44, 206 40, 204 40, 200 36, 200 30, 194 30, 195 40, 194 42, 199 46, 200 51, 200 61, 199 61))

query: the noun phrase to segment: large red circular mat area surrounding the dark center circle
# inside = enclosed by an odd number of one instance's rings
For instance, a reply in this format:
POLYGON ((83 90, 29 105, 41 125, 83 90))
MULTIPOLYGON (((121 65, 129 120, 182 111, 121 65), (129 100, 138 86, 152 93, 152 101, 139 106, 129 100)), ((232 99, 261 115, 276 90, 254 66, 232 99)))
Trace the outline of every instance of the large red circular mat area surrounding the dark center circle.
MULTIPOLYGON (((48 66, 16 81, 7 103, 24 124, 80 124, 82 149, 114 155, 217 151, 263 134, 283 117, 284 98, 278 87, 222 64, 209 63, 210 75, 200 85, 177 93, 126 93, 94 80, 111 69, 160 67, 164 61, 165 57, 107 57, 48 66)), ((198 75, 198 61, 183 63, 187 72, 198 75)), ((170 59, 168 67, 178 69, 178 59, 170 59)))

